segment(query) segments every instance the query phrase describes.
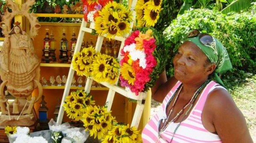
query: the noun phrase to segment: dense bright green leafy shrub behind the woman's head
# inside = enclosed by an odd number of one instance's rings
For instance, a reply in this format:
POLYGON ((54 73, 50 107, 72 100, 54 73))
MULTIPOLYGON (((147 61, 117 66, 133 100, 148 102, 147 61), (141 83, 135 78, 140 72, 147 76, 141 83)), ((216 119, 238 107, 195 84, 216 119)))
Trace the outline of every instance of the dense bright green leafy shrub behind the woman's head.
MULTIPOLYGON (((241 14, 222 15, 219 11, 195 9, 173 20, 166 28, 164 35, 176 49, 192 29, 207 32, 227 48, 233 65, 234 74, 237 70, 255 73, 256 63, 256 20, 250 12, 241 14)), ((171 57, 173 57, 171 55, 171 57)), ((169 74, 172 68, 169 68, 169 74)))

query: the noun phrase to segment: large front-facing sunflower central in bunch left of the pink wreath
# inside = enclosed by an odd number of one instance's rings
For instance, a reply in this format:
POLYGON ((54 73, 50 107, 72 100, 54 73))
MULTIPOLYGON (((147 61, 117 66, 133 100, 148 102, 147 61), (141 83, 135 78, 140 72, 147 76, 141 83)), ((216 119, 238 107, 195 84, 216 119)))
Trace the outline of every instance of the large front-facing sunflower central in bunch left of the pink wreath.
POLYGON ((98 54, 95 56, 95 60, 92 64, 93 71, 92 76, 94 77, 95 81, 105 81, 106 74, 109 72, 110 65, 107 64, 105 54, 98 54))

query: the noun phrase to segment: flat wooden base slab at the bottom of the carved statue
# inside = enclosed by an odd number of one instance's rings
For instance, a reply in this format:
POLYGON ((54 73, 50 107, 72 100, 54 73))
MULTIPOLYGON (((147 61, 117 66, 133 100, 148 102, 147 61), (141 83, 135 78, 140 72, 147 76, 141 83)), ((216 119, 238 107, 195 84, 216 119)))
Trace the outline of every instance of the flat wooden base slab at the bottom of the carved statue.
POLYGON ((0 126, 32 126, 36 122, 36 118, 33 114, 21 115, 19 120, 17 120, 19 116, 11 116, 11 120, 8 115, 0 116, 0 126))

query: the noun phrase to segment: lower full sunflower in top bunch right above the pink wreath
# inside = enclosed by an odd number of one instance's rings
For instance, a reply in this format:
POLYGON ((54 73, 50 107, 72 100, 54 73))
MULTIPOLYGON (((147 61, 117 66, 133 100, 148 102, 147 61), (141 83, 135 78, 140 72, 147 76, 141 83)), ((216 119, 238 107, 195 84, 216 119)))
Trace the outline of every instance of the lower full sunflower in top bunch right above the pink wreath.
POLYGON ((156 24, 156 22, 158 21, 159 18, 159 12, 158 11, 154 11, 154 10, 150 10, 148 8, 146 8, 144 10, 144 19, 146 21, 146 26, 154 26, 156 24))

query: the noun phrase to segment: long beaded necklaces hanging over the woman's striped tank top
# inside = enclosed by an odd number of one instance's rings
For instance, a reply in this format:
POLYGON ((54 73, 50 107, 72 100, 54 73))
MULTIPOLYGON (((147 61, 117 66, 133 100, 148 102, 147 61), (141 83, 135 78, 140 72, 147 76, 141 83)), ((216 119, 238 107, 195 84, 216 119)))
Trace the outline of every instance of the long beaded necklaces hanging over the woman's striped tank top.
MULTIPOLYGON (((169 103, 173 100, 173 98, 174 98, 174 96, 176 95, 177 91, 179 91, 178 94, 177 94, 176 99, 174 100, 173 106, 172 106, 171 109, 170 109, 170 112, 169 112, 169 114, 168 114, 168 117, 166 118, 166 121, 163 120, 164 125, 162 126, 162 128, 161 128, 160 131, 159 131, 159 129, 158 129, 158 141, 159 141, 159 138, 161 138, 160 134, 165 131, 165 129, 169 126, 169 124, 170 124, 171 122, 177 121, 178 118, 181 116, 181 114, 183 114, 184 109, 190 104, 188 110, 186 111, 186 113, 185 113, 184 116, 182 117, 181 122, 184 120, 184 118, 186 117, 186 115, 188 114, 188 112, 192 109, 192 106, 194 105, 197 96, 200 94, 200 92, 202 91, 202 89, 205 88, 205 86, 206 86, 209 82, 210 82, 210 80, 206 80, 206 81, 196 90, 196 92, 194 93, 194 95, 192 96, 192 98, 188 101, 188 103, 186 103, 186 104, 183 106, 183 108, 180 110, 180 112, 179 112, 171 121, 168 122, 169 116, 171 115, 171 112, 173 112, 173 107, 174 107, 174 105, 175 105, 176 102, 177 102, 177 98, 178 98, 178 96, 179 96, 179 94, 180 94, 180 92, 181 92, 181 88, 183 87, 183 85, 181 84, 181 85, 176 89, 176 91, 173 93, 173 96, 169 99, 168 103, 166 104, 166 107, 169 106, 169 103), (180 90, 179 90, 179 89, 180 89, 180 90), (166 125, 166 122, 168 122, 167 125, 166 125)), ((170 143, 172 142, 173 137, 174 137, 175 133, 177 132, 177 129, 180 127, 181 122, 179 122, 179 124, 178 124, 178 125, 176 126, 176 128, 174 129, 174 131, 173 131, 173 136, 172 136, 172 139, 171 139, 170 143)), ((160 128, 160 125, 159 125, 159 128, 160 128)), ((158 141, 157 141, 157 143, 158 143, 158 141)))

